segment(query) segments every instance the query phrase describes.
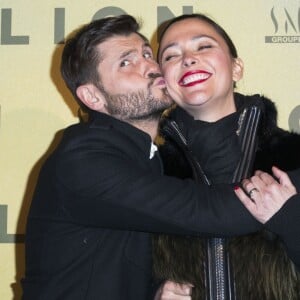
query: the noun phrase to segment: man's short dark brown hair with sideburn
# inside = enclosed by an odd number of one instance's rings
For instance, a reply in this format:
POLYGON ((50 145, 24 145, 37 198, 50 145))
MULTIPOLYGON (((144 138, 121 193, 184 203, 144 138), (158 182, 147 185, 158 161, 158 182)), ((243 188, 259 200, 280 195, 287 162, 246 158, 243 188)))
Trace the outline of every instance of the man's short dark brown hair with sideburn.
MULTIPOLYGON (((130 15, 107 17, 84 25, 66 41, 60 70, 66 85, 77 101, 76 89, 80 85, 93 83, 97 86, 101 79, 97 73, 101 61, 97 46, 113 36, 128 36, 131 33, 136 33, 146 40, 138 33, 139 29, 140 25, 130 15)), ((81 101, 78 103, 86 109, 81 101)))

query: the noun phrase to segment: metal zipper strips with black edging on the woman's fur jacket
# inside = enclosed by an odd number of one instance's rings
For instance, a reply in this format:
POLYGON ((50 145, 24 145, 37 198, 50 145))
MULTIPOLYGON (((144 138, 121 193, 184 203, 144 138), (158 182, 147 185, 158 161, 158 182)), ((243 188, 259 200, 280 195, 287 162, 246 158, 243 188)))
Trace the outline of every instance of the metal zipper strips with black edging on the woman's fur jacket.
MULTIPOLYGON (((261 110, 257 106, 245 109, 239 119, 238 136, 241 139, 241 160, 233 175, 233 182, 250 175, 253 166, 254 153, 257 144, 257 131, 261 118, 261 110)), ((168 120, 164 128, 171 138, 185 150, 185 157, 193 170, 196 182, 211 185, 204 173, 199 161, 188 148, 187 140, 174 120, 168 120)), ((230 270, 229 255, 227 252, 227 240, 225 238, 207 239, 207 266, 206 286, 208 295, 206 300, 234 300, 234 280, 230 270)))

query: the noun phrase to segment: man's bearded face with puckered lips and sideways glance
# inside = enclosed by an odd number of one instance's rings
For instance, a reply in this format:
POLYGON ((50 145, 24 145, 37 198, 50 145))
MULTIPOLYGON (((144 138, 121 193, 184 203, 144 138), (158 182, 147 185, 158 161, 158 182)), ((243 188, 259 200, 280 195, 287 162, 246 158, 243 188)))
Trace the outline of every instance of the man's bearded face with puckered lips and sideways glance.
POLYGON ((146 120, 172 104, 152 49, 138 34, 113 36, 98 50, 98 88, 108 114, 124 121, 146 120))

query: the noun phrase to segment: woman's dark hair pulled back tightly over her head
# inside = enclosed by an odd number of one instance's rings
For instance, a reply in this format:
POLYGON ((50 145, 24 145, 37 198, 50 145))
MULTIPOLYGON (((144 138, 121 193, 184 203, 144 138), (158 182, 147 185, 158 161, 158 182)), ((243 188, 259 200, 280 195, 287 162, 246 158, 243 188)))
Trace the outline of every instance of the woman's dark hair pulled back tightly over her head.
MULTIPOLYGON (((210 19, 208 16, 204 15, 204 14, 185 14, 185 15, 181 15, 178 17, 175 17, 171 20, 166 21, 165 23, 163 23, 161 25, 161 29, 160 29, 160 34, 158 37, 158 42, 160 44, 162 38, 164 37, 166 31, 168 30, 168 28, 170 28, 174 23, 180 22, 182 20, 186 20, 186 19, 198 19, 200 21, 206 22, 207 24, 211 25, 215 31, 224 39, 225 43, 228 46, 229 49, 229 53, 232 56, 232 58, 237 58, 238 54, 237 54, 237 50, 235 45, 233 44, 231 38, 229 37, 229 35, 227 34, 227 32, 215 21, 213 21, 212 19, 210 19)), ((158 56, 160 53, 160 47, 158 48, 158 56)), ((159 57, 158 57, 159 58, 159 57)))

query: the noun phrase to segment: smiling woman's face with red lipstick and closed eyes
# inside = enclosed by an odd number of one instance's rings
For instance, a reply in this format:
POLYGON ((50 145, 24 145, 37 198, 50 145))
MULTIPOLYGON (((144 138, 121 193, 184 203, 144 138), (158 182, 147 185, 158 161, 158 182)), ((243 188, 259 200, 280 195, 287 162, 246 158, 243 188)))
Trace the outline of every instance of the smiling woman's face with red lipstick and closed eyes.
POLYGON ((233 83, 243 65, 208 23, 190 18, 171 25, 160 44, 159 63, 169 94, 194 117, 234 106, 233 83))

